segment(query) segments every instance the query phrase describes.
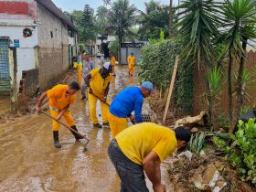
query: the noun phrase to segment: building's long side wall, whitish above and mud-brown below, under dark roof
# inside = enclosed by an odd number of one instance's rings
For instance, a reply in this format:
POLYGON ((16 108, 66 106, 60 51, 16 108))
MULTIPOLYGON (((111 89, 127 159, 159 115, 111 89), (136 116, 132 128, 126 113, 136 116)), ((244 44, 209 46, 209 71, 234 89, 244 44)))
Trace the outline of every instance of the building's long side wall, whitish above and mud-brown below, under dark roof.
POLYGON ((39 85, 47 89, 69 68, 68 27, 41 5, 37 5, 37 21, 39 85))

